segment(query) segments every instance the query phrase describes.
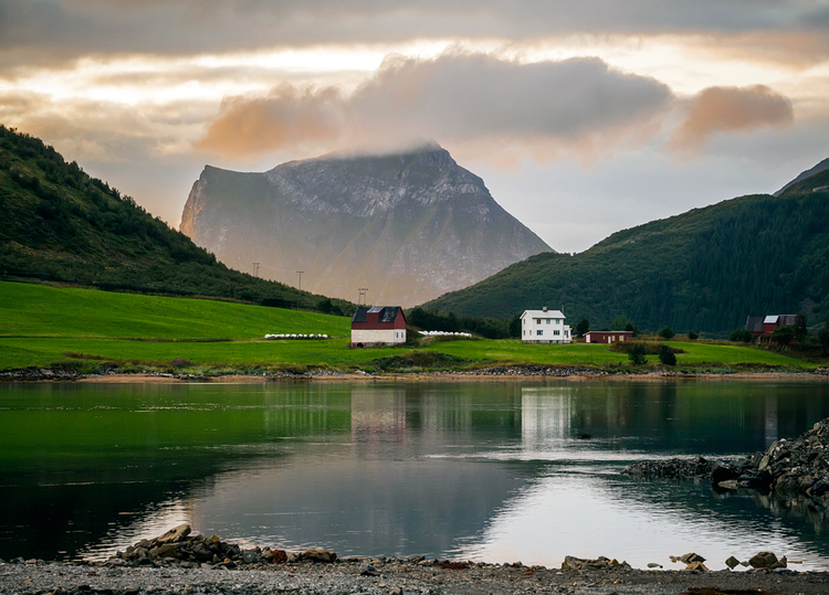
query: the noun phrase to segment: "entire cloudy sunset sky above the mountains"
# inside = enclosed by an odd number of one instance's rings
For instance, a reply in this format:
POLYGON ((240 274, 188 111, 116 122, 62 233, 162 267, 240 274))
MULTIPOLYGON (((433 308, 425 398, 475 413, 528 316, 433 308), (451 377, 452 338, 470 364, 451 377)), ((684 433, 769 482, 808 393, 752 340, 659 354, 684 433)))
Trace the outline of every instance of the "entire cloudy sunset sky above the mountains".
POLYGON ((175 227, 208 163, 436 141, 581 252, 829 157, 829 0, 0 0, 0 124, 175 227))

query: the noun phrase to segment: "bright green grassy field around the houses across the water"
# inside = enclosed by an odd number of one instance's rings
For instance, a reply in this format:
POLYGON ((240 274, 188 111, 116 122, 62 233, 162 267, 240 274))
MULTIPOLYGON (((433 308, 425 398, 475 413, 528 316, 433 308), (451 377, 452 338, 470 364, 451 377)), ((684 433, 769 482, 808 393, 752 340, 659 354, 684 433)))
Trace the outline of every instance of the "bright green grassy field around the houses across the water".
MULTIPOLYGON (((608 346, 528 346, 517 339, 433 341, 422 347, 348 349, 348 318, 316 312, 0 283, 0 370, 102 364, 128 370, 190 372, 330 366, 374 370, 395 358, 397 368, 480 366, 495 363, 626 366, 608 346), (327 340, 264 340, 265 333, 325 333, 327 340)), ((812 369, 783 353, 703 342, 683 349, 685 368, 812 369)), ((648 366, 658 363, 648 358, 648 366)), ((392 365, 392 369, 395 366, 392 365)))

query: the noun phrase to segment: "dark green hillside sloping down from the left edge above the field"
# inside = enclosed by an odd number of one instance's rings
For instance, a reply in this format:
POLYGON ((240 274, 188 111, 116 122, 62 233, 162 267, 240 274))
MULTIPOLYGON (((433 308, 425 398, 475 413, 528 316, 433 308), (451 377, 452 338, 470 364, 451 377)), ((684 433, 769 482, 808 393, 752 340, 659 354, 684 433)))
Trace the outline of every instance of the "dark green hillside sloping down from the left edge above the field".
POLYGON ((347 311, 216 261, 129 196, 0 126, 0 276, 347 311))

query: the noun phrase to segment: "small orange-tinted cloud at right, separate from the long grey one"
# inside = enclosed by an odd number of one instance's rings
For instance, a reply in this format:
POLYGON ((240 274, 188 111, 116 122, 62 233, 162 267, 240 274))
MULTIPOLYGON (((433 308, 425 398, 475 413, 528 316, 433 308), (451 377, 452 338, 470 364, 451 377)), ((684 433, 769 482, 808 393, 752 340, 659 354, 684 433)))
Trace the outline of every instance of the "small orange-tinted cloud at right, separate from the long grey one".
POLYGON ((696 152, 717 132, 751 132, 794 123, 791 102, 765 85, 709 87, 691 99, 688 117, 669 147, 696 152))

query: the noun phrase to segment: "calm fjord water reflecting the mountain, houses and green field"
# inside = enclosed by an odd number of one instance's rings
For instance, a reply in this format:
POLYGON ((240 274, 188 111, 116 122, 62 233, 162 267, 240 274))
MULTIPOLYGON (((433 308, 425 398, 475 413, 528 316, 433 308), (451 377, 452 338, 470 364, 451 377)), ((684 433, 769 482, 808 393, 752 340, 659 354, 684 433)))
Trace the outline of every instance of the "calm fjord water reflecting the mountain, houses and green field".
POLYGON ((249 545, 557 566, 829 567, 827 516, 650 458, 752 454, 829 416, 818 382, 0 385, 0 557, 102 559, 190 522, 249 545))

